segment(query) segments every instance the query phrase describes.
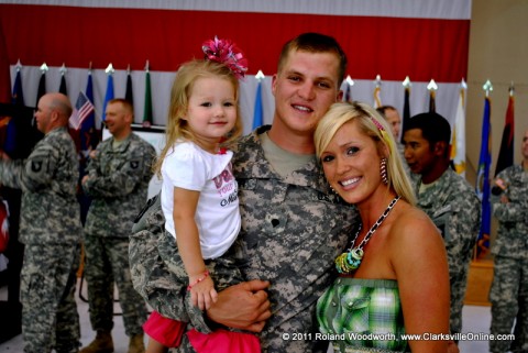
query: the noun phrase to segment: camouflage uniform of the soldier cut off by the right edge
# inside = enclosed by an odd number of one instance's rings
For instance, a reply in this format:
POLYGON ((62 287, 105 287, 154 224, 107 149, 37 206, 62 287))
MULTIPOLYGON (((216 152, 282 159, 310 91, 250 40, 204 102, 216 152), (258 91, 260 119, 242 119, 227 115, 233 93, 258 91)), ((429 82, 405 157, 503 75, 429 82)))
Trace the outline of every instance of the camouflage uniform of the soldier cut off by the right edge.
MULTIPOLYGON (((493 244, 495 255, 494 277, 490 290, 493 334, 508 334, 520 308, 528 308, 528 173, 522 166, 510 166, 497 175, 507 186, 504 194, 509 200, 501 202, 501 196, 492 196, 493 213, 498 220, 497 239, 493 244)), ((519 315, 518 318, 525 318, 519 315)), ((528 322, 518 328, 526 331, 528 322)), ((517 340, 521 339, 516 338, 517 340)), ((490 341, 491 352, 506 352, 512 341, 490 341)), ((527 352, 528 342, 516 342, 518 351, 527 352), (524 345, 521 350, 520 345, 524 345)))

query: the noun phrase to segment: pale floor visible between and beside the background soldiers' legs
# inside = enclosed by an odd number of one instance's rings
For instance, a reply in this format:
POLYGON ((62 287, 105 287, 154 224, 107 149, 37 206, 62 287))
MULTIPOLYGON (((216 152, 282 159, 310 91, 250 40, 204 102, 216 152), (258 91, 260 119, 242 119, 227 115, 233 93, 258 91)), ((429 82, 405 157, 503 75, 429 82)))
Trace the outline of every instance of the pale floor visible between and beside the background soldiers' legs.
MULTIPOLYGON (((84 286, 84 297, 86 298, 86 286, 84 286)), ((0 288, 0 300, 6 300, 7 289, 0 288)), ((79 299, 77 295, 78 311, 80 316, 80 327, 81 327, 81 343, 82 345, 88 344, 95 337, 95 332, 91 331, 90 322, 88 318, 88 304, 79 299)), ((119 304, 116 304, 116 312, 120 312, 119 304)), ((0 315, 0 320, 1 318, 0 315)), ((475 307, 475 306, 465 306, 463 310, 463 332, 464 333, 488 333, 490 332, 490 307, 475 307)), ((124 334, 123 321, 120 316, 114 317, 114 329, 112 331, 113 343, 116 348, 116 353, 127 353, 129 339, 124 334)), ((145 343, 146 343, 145 338, 145 343)), ((486 353, 488 352, 487 341, 461 341, 460 342, 460 352, 461 353, 486 353)), ((22 353, 22 337, 18 335, 11 339, 8 342, 0 344, 0 353, 22 353)))

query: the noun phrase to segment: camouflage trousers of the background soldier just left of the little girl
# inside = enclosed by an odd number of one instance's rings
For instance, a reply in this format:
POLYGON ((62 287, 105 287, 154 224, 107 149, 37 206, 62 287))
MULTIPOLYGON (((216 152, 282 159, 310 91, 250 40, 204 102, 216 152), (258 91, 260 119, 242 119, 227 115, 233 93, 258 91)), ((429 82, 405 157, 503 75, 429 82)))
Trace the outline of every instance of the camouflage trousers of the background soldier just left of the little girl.
POLYGON ((110 236, 86 236, 85 278, 88 284, 90 322, 95 331, 113 328, 113 291, 119 291, 127 335, 143 333, 146 306, 132 286, 129 266, 129 240, 110 236))

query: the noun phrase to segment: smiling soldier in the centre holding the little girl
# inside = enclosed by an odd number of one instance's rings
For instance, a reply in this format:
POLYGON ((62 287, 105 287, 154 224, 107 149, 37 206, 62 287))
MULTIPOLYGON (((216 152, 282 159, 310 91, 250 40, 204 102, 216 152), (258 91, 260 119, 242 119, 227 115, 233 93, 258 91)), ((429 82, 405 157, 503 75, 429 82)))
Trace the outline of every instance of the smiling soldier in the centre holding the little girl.
MULTIPOLYGON (((305 33, 286 43, 272 81, 273 124, 243 137, 234 152, 242 216, 234 250, 252 280, 220 291, 207 322, 260 332, 262 352, 327 352, 328 342, 316 339, 315 306, 337 274, 333 258, 345 249, 358 213, 324 180, 314 131, 341 99, 345 67, 345 54, 332 37, 305 33)), ((145 232, 133 236, 131 246, 135 288, 157 311, 177 320, 186 309, 169 290, 170 278, 160 278, 163 268, 156 262, 157 251, 169 250, 155 250, 148 241, 163 214, 151 209, 140 223, 145 232), (145 257, 147 264, 142 263, 145 257), (150 290, 148 280, 156 276, 167 291, 150 290)), ((201 313, 188 313, 194 328, 210 332, 200 327, 201 313)), ((195 352, 186 335, 178 352, 195 352)))

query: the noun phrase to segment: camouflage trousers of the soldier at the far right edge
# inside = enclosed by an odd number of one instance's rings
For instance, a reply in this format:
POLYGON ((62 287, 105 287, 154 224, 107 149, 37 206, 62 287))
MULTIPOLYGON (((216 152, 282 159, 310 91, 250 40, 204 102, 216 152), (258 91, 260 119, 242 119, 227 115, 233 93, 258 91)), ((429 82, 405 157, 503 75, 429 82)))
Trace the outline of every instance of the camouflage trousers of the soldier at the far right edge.
POLYGON ((528 352, 526 328, 528 328, 528 260, 495 256, 494 276, 490 290, 492 302, 492 334, 509 334, 516 323, 516 340, 490 341, 490 352, 528 352), (521 310, 519 312, 519 310, 521 310))

